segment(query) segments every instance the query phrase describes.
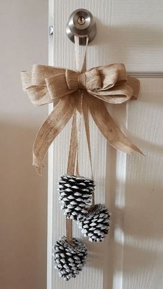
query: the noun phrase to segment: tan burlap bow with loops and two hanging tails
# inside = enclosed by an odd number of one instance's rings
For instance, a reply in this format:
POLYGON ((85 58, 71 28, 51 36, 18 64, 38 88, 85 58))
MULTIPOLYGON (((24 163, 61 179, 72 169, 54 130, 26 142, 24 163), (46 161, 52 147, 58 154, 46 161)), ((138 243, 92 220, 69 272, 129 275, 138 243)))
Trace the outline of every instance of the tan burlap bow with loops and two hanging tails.
POLYGON ((83 95, 83 113, 90 114, 108 142, 125 153, 140 152, 120 131, 108 113, 104 102, 122 104, 137 99, 140 84, 128 77, 124 64, 91 68, 85 73, 53 66, 34 65, 32 72, 21 72, 23 91, 35 106, 54 102, 55 108, 39 129, 33 146, 33 165, 41 174, 42 161, 48 147, 76 109, 83 95))

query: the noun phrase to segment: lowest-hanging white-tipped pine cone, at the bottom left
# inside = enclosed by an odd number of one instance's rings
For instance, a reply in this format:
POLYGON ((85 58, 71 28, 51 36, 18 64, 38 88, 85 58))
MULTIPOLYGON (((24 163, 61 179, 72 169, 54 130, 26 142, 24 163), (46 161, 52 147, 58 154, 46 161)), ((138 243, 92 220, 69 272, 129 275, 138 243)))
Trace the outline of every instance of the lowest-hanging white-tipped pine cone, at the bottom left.
POLYGON ((65 280, 75 278, 82 270, 87 257, 87 249, 84 243, 73 238, 73 244, 66 241, 66 236, 62 236, 54 246, 52 253, 55 268, 59 270, 59 276, 65 280))

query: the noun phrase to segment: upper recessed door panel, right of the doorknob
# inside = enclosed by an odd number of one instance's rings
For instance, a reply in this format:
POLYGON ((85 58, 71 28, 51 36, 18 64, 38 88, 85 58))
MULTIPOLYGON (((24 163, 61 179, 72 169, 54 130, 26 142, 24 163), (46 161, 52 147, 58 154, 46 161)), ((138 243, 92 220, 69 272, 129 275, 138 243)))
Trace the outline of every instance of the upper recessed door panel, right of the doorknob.
POLYGON ((162 71, 162 15, 161 0, 113 0, 106 38, 111 62, 124 62, 128 71, 162 71))

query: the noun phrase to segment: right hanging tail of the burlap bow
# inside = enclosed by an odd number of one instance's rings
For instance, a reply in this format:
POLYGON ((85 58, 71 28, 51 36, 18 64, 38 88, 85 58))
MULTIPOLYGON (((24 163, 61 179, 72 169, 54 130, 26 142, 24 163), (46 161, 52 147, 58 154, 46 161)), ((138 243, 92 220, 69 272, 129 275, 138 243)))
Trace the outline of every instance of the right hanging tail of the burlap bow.
POLYGON ((90 95, 88 95, 87 100, 95 124, 112 147, 128 154, 137 151, 144 155, 117 127, 102 100, 98 100, 95 97, 92 98, 90 95))

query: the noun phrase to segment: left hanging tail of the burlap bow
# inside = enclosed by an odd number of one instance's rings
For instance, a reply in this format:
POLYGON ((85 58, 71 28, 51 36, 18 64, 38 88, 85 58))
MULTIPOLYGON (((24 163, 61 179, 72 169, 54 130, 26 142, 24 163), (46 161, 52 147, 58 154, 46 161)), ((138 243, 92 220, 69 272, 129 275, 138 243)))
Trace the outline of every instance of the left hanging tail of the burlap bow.
POLYGON ((33 163, 37 174, 41 176, 41 169, 44 167, 42 161, 51 143, 58 134, 64 129, 67 122, 73 115, 74 102, 70 95, 66 95, 59 100, 55 109, 48 115, 44 124, 39 129, 37 137, 33 145, 33 163))

